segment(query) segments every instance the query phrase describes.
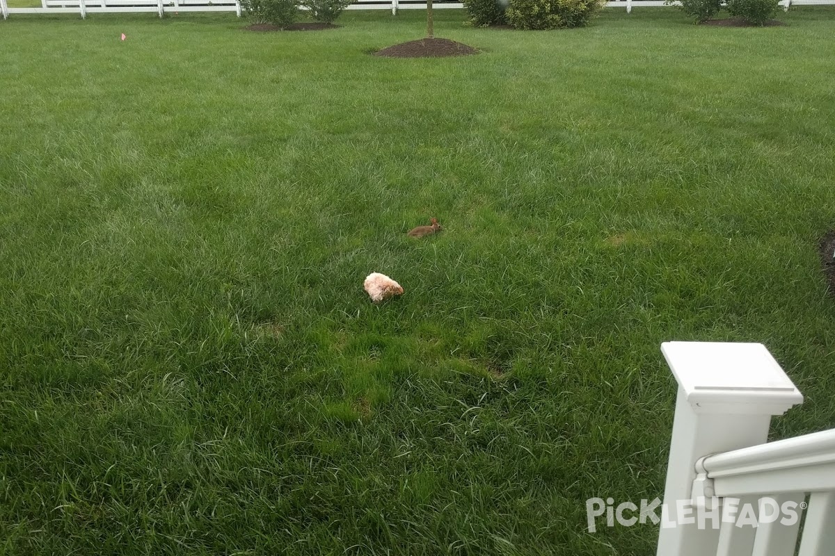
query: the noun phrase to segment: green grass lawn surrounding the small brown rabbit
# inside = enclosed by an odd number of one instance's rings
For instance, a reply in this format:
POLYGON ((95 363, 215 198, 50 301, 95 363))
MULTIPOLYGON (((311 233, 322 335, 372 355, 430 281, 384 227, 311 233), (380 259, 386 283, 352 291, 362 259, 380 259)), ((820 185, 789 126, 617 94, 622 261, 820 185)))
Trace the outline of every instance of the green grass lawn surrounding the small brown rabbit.
POLYGON ((765 343, 773 436, 832 426, 835 9, 435 15, 483 53, 0 22, 0 550, 654 553, 584 503, 662 495, 671 339, 765 343))

